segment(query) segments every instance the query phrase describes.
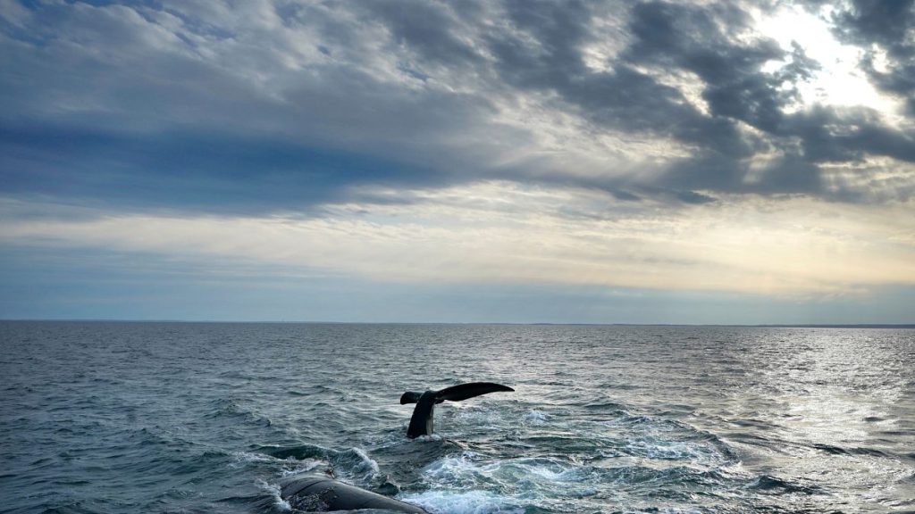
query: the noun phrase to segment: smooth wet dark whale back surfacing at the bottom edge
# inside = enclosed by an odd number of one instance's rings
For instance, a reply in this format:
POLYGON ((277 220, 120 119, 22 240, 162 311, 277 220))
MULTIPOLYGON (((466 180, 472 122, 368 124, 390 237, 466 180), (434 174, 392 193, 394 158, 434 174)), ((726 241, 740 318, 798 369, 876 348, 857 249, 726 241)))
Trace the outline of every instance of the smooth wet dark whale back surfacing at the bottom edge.
POLYGON ((426 510, 323 475, 293 476, 280 486, 280 497, 294 512, 382 509, 407 514, 426 510))

